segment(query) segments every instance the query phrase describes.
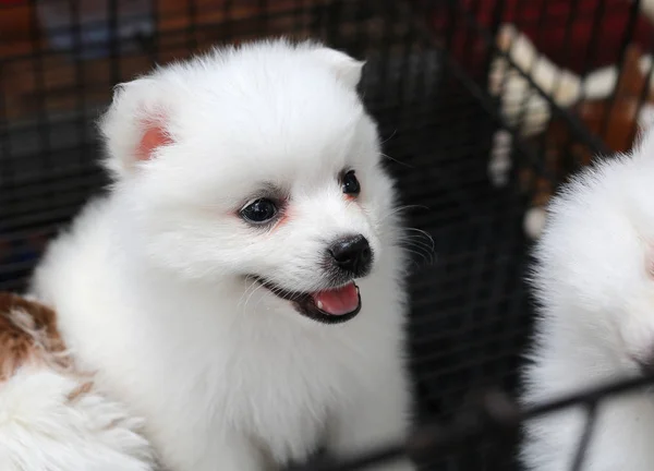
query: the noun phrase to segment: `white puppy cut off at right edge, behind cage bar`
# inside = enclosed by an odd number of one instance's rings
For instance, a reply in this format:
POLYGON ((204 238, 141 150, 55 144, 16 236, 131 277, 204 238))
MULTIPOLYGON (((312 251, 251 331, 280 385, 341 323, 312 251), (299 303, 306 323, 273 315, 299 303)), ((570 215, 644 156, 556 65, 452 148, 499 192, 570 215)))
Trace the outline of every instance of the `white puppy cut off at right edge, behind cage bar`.
MULTIPOLYGON (((541 315, 525 403, 654 369, 654 131, 584 170, 553 201, 534 271, 541 315)), ((601 402, 583 470, 654 469, 654 396, 601 402)), ((529 470, 569 470, 585 413, 526 426, 529 470)))

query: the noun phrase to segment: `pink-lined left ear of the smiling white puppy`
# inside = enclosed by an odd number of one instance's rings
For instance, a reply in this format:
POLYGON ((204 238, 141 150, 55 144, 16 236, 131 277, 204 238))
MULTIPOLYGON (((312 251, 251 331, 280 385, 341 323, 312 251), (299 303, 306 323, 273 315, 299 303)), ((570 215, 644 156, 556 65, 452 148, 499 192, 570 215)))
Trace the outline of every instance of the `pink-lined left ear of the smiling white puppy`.
POLYGON ((155 158, 172 144, 170 107, 155 78, 138 78, 116 87, 113 101, 100 120, 107 157, 105 167, 117 178, 135 170, 138 162, 155 158))

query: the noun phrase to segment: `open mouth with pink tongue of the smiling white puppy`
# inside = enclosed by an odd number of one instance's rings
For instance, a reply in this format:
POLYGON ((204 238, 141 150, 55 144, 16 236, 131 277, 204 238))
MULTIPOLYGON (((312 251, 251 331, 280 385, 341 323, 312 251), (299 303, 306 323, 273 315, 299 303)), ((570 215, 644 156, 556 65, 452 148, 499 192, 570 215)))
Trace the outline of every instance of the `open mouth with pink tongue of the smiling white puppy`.
POLYGON ((277 298, 289 301, 300 314, 324 324, 342 324, 361 311, 361 295, 354 281, 316 292, 293 292, 265 279, 256 280, 277 298))

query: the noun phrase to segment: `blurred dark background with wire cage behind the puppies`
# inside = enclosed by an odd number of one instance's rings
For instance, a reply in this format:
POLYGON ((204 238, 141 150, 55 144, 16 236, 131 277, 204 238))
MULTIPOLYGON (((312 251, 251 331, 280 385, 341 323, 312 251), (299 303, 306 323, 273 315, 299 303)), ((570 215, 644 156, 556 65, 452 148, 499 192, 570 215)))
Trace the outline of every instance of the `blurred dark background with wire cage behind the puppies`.
MULTIPOLYGON (((265 36, 366 59, 362 96, 415 232, 420 421, 517 392, 530 245, 557 185, 654 117, 652 0, 0 0, 0 289, 106 183, 95 120, 154 64, 265 36), (433 244, 433 247, 432 247, 433 244)), ((507 470, 514 437, 425 460, 507 470)))

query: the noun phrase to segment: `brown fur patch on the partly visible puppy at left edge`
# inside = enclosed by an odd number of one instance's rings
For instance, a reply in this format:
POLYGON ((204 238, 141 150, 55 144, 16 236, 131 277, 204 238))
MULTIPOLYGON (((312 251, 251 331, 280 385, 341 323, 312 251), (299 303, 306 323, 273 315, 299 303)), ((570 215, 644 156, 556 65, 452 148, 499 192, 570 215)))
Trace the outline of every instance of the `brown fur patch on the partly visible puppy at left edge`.
POLYGON ((51 309, 12 293, 0 293, 0 382, 25 364, 69 370, 72 360, 51 309))

